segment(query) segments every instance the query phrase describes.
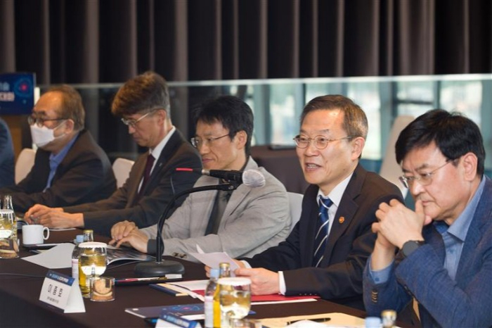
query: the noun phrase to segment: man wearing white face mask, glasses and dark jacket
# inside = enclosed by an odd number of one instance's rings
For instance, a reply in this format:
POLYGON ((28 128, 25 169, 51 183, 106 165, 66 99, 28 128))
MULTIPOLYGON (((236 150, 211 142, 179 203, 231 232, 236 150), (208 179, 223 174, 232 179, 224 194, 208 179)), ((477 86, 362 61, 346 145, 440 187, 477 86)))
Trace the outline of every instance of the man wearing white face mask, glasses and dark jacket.
POLYGON ((115 175, 103 149, 84 129, 80 94, 68 85, 41 96, 28 118, 36 152, 31 172, 16 185, 0 189, 11 194, 16 211, 37 203, 72 206, 107 198, 116 189, 115 175))

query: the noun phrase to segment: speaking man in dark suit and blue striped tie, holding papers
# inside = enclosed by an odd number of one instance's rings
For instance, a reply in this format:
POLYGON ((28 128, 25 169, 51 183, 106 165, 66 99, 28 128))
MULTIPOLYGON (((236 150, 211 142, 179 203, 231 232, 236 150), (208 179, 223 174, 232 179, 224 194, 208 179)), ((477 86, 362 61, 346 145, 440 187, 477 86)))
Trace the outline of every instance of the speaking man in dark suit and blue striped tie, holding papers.
POLYGON ((375 211, 383 201, 403 201, 398 187, 360 165, 367 133, 365 113, 344 96, 319 96, 304 106, 294 141, 311 185, 286 241, 237 261, 235 275, 250 277, 253 294, 318 295, 363 309, 375 211))

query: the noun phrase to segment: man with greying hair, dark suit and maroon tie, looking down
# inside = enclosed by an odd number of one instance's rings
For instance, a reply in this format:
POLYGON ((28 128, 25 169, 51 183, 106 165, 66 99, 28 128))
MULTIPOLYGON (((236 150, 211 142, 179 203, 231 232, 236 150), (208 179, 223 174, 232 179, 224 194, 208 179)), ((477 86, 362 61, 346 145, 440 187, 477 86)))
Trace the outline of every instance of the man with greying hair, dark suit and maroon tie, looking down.
MULTIPOLYGON (((138 227, 157 222, 174 194, 193 187, 197 175, 176 168, 200 168, 197 151, 171 122, 169 92, 164 77, 145 72, 119 88, 112 113, 122 117, 128 132, 148 151, 139 156, 122 187, 96 203, 64 208, 34 206, 25 215, 47 227, 84 227, 110 235, 115 223, 131 220, 138 227)), ((178 199, 179 206, 183 199, 178 199)))

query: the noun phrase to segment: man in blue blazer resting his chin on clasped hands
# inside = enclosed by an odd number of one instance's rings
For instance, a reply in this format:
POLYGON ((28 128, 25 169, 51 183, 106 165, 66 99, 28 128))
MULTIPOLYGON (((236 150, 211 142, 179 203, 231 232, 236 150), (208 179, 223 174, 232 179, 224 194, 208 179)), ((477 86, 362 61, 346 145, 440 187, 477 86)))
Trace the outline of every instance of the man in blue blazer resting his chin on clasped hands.
POLYGON ((390 201, 376 212, 364 272, 369 315, 415 298, 423 327, 492 327, 492 181, 484 160, 479 127, 458 113, 429 111, 400 133, 396 161, 415 210, 390 201))

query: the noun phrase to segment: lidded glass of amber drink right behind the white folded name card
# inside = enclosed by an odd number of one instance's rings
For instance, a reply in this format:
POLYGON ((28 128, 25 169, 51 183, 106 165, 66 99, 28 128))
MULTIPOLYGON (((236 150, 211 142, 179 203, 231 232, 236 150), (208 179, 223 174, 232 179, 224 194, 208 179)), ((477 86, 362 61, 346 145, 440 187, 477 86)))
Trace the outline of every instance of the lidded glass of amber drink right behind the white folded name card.
POLYGON ((79 244, 79 286, 82 297, 91 297, 91 282, 94 277, 99 277, 106 270, 108 258, 106 256, 106 244, 96 241, 88 241, 79 244))

